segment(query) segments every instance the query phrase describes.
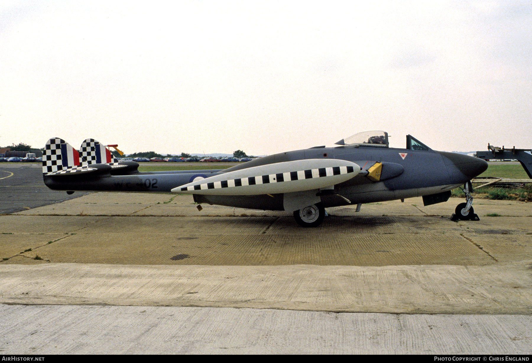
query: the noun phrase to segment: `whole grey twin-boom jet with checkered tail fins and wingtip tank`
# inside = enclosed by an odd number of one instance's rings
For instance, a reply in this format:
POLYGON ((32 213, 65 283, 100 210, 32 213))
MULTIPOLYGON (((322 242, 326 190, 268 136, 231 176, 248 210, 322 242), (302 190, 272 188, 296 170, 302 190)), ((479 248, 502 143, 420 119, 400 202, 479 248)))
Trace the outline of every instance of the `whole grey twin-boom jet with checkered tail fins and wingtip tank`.
POLYGON ((52 138, 43 154, 44 183, 67 191, 159 192, 192 194, 196 203, 293 212, 303 227, 316 227, 325 208, 422 196, 425 205, 445 202, 464 185, 460 219, 476 219, 471 182, 486 161, 434 151, 411 135, 406 149, 388 146, 384 131, 365 131, 336 147, 288 151, 222 170, 140 172, 136 162, 118 162, 94 139, 79 151, 52 138))

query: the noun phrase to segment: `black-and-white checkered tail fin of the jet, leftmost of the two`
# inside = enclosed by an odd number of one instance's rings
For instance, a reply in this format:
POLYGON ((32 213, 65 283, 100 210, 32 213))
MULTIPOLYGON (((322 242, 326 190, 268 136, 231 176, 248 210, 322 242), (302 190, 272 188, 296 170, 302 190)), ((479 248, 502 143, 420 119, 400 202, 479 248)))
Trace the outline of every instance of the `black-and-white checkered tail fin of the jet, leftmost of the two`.
POLYGON ((48 140, 43 152, 44 175, 69 175, 93 171, 78 151, 59 137, 48 140))

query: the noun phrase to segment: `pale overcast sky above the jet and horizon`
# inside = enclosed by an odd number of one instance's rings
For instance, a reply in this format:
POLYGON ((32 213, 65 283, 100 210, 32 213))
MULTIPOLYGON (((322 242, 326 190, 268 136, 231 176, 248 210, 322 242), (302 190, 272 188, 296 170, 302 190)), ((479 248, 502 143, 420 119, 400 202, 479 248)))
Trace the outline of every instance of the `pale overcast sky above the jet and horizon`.
POLYGON ((532 147, 532 2, 0 2, 0 146, 532 147))

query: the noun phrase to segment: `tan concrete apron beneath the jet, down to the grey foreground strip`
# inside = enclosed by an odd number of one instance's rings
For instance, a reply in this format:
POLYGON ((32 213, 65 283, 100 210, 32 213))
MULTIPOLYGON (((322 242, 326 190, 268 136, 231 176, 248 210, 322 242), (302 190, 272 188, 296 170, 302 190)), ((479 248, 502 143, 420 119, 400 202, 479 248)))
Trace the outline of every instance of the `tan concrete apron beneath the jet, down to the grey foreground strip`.
POLYGON ((0 216, 0 301, 530 314, 532 205, 477 201, 479 222, 452 222, 461 201, 330 209, 304 229, 189 196, 89 194, 0 216))

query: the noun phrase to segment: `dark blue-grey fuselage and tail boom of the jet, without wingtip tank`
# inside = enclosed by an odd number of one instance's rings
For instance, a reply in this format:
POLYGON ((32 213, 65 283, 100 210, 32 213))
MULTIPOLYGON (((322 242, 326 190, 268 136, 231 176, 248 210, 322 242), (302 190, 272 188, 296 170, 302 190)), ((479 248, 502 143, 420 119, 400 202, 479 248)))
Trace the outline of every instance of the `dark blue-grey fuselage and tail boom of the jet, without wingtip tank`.
MULTIPOLYGON (((334 193, 321 195, 324 207, 373 203, 433 195, 467 183, 487 169, 484 160, 472 156, 440 152, 395 149, 375 146, 315 147, 265 156, 222 170, 185 170, 139 172, 135 163, 126 170, 114 171, 106 164, 91 165, 97 172, 75 176, 44 176, 45 184, 63 191, 114 191, 169 193, 172 188, 225 172, 304 159, 340 159, 358 164, 361 172, 347 182, 337 184, 334 193), (378 181, 367 178, 376 162, 382 163, 378 181), (122 174, 122 175, 118 175, 122 174), (349 202, 347 202, 347 199, 349 202)), ((197 203, 230 207, 284 210, 284 194, 272 195, 198 195, 197 203)))

